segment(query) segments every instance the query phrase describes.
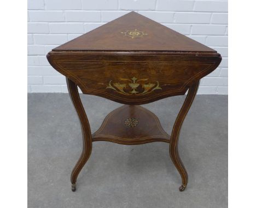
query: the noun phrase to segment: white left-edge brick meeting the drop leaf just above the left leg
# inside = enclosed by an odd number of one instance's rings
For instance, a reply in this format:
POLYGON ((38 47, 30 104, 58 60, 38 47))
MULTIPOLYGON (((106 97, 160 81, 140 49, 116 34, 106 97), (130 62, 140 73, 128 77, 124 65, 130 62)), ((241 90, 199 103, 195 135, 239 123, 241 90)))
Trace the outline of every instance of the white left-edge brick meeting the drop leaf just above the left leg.
POLYGON ((51 66, 28 66, 27 67, 27 74, 28 75, 38 75, 38 76, 44 76, 44 75, 61 75, 59 72, 57 72, 53 67, 51 66))

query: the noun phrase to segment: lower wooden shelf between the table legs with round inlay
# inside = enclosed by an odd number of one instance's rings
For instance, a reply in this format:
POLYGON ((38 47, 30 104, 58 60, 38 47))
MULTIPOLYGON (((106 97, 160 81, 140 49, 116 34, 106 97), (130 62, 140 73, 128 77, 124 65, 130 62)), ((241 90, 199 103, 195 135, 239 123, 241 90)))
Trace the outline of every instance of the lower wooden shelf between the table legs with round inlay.
POLYGON ((155 114, 141 106, 121 106, 107 115, 100 129, 92 134, 92 142, 108 141, 118 144, 170 143, 155 114))

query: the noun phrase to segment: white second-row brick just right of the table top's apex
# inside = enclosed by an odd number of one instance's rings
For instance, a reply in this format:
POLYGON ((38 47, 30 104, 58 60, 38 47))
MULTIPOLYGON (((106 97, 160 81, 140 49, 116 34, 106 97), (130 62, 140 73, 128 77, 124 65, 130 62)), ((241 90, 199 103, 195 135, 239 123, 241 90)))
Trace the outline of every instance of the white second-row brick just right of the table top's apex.
POLYGON ((174 13, 158 11, 139 11, 139 14, 160 23, 173 23, 174 13))

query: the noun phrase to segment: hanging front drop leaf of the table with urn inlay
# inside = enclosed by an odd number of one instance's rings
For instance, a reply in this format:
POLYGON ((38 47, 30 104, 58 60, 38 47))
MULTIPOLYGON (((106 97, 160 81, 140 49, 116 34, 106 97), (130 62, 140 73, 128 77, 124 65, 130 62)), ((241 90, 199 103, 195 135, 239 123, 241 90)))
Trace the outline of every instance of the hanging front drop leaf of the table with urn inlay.
POLYGON ((75 82, 84 94, 129 105, 184 95, 194 82, 216 69, 221 60, 217 53, 191 56, 188 53, 107 54, 75 51, 50 52, 47 58, 57 71, 75 82), (136 94, 131 93, 133 77, 139 84, 136 94), (147 93, 143 93, 145 84, 153 84, 147 93), (154 89, 157 85, 159 88, 154 89))

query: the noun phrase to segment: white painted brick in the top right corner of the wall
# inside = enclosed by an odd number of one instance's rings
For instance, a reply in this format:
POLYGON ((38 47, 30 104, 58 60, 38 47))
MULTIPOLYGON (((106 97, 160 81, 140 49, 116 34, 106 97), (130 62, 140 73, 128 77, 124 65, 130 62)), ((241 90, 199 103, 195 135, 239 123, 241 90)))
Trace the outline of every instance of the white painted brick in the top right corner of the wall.
POLYGON ((195 1, 194 10, 228 12, 228 1, 195 1))

